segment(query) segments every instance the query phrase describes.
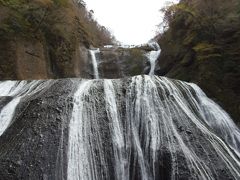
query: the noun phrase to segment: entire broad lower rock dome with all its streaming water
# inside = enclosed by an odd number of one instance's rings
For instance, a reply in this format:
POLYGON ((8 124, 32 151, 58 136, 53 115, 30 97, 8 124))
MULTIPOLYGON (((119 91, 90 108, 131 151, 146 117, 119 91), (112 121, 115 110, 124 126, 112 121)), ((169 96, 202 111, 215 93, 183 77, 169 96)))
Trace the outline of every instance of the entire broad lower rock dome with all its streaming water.
POLYGON ((2 180, 240 178, 240 131, 194 84, 5 81, 0 94, 2 180))

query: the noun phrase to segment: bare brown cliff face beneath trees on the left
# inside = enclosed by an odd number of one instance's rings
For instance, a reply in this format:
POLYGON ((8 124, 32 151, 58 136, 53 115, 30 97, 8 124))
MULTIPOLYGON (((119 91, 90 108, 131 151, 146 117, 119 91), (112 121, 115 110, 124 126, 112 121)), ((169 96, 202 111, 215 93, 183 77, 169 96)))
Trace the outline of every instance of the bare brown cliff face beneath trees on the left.
POLYGON ((84 73, 88 51, 78 44, 69 60, 59 62, 49 57, 47 47, 39 41, 17 40, 3 44, 0 79, 47 79, 87 77, 84 73), (4 49, 4 50, 3 50, 4 49), (9 55, 9 56, 8 56, 9 55), (8 56, 8 57, 6 57, 8 56), (9 63, 12 64, 9 64, 9 63))

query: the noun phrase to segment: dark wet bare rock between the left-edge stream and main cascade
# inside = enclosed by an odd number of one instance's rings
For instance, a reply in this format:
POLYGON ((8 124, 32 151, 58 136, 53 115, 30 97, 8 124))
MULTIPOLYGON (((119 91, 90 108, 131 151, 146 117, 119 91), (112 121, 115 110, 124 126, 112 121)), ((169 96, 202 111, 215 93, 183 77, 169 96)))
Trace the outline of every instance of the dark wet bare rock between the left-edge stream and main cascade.
POLYGON ((72 89, 70 80, 56 80, 21 100, 0 137, 0 179, 65 179, 72 89))

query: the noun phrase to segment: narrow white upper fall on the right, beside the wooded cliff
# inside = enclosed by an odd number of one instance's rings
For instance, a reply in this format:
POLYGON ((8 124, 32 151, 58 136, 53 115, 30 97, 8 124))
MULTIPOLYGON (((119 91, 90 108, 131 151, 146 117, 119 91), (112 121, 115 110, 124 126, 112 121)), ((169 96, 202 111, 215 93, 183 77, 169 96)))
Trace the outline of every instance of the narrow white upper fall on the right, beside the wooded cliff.
POLYGON ((148 45, 154 49, 147 54, 147 57, 149 59, 150 66, 151 66, 149 75, 152 76, 152 75, 154 75, 156 60, 160 56, 161 49, 160 49, 160 46, 158 45, 158 43, 156 43, 156 42, 149 43, 148 45))

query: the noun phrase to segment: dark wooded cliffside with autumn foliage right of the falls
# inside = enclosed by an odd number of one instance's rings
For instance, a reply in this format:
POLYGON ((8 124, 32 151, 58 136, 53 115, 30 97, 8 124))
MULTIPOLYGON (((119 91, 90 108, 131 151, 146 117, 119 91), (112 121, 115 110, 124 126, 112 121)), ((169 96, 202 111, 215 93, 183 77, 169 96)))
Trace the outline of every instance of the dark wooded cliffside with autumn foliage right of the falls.
POLYGON ((162 10, 159 74, 198 83, 239 119, 240 1, 181 0, 162 10))

